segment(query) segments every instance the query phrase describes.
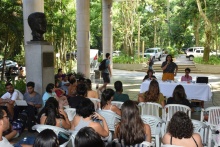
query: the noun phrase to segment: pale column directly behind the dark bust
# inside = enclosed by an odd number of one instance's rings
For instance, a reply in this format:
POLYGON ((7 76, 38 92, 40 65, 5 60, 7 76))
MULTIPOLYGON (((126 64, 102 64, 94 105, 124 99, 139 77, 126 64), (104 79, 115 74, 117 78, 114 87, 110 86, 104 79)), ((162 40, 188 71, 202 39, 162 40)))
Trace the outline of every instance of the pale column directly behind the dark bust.
POLYGON ((28 16, 33 12, 44 12, 44 0, 23 0, 24 44, 33 39, 28 25, 28 16))

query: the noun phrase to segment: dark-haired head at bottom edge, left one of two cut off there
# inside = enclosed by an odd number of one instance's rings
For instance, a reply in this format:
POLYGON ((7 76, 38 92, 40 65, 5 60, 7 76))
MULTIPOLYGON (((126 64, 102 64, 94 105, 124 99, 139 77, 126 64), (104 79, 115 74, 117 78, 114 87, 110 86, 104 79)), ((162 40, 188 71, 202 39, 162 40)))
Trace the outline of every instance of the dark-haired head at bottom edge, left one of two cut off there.
POLYGON ((37 135, 33 147, 59 147, 57 135, 53 130, 45 129, 37 135))

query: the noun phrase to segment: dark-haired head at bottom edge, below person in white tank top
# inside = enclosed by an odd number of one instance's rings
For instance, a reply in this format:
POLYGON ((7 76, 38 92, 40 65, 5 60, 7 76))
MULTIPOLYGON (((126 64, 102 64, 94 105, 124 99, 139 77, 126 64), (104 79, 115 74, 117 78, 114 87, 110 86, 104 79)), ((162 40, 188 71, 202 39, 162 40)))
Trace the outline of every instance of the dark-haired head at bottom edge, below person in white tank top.
POLYGON ((74 140, 75 147, 105 147, 104 142, 95 130, 91 127, 84 127, 79 130, 74 140))

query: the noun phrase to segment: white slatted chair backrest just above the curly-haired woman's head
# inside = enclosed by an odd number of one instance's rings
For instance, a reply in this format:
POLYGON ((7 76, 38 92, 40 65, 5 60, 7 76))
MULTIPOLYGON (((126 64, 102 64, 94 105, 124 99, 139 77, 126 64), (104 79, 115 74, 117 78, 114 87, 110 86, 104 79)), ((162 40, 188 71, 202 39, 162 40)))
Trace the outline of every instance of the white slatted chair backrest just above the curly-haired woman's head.
POLYGON ((186 114, 188 114, 189 118, 191 118, 191 108, 185 105, 181 104, 168 104, 165 105, 163 109, 163 120, 164 121, 170 121, 172 118, 173 114, 176 113, 177 111, 183 111, 186 114))

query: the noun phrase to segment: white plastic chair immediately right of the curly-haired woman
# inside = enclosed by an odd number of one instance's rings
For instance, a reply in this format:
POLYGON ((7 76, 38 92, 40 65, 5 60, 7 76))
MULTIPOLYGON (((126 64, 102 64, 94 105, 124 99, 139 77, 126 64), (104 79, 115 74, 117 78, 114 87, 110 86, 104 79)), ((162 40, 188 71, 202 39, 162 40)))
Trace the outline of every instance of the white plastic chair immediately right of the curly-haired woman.
POLYGON ((208 133, 209 133, 208 126, 205 123, 198 121, 198 120, 194 120, 194 119, 192 119, 192 123, 194 127, 193 132, 198 133, 201 136, 203 145, 207 145, 208 144, 207 139, 208 139, 208 133))

